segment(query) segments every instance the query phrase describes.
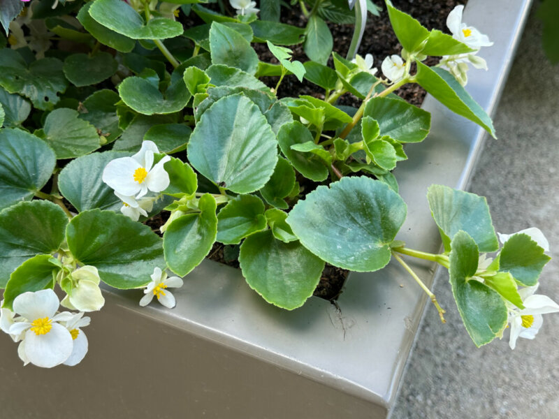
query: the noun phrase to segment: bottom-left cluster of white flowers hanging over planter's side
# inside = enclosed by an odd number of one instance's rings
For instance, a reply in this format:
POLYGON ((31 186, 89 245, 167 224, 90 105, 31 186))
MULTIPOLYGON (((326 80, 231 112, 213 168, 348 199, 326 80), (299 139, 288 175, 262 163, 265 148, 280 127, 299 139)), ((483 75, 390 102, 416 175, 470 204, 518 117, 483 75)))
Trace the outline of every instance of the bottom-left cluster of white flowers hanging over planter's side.
POLYGON ((18 295, 13 311, 0 309, 0 329, 20 342, 17 355, 24 365, 73 366, 85 357, 87 337, 81 328, 89 325, 89 317, 82 312, 57 314, 59 304, 55 291, 46 289, 18 295))

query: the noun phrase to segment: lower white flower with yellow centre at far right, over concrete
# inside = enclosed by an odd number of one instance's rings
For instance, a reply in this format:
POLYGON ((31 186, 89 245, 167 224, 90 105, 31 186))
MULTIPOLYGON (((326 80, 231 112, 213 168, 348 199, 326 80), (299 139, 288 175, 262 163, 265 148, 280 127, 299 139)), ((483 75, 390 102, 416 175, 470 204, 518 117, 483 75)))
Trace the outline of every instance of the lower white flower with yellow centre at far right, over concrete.
POLYGON ((534 339, 542 327, 544 319, 542 314, 556 313, 559 311, 559 304, 551 300, 547 295, 535 294, 537 287, 530 286, 518 291, 522 299, 524 309, 519 310, 509 305, 509 322, 511 323, 511 335, 509 346, 516 348, 516 339, 534 339))

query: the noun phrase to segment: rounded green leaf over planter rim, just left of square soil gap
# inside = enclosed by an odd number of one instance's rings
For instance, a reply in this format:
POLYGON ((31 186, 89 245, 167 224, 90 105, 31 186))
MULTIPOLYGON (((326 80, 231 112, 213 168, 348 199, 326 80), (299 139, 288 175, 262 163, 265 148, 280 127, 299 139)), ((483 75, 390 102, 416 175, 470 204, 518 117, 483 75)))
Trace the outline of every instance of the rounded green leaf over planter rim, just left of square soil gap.
POLYGON ((250 288, 267 302, 288 310, 305 303, 324 270, 323 260, 298 242, 277 240, 270 230, 242 242, 239 262, 250 288))

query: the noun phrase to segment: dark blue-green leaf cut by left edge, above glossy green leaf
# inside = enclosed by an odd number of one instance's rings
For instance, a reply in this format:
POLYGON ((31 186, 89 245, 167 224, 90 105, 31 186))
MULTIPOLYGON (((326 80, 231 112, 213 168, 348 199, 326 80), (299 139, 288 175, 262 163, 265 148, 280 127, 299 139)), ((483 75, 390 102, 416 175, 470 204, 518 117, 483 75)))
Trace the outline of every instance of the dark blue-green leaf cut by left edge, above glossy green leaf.
POLYGON ((17 128, 0 130, 0 210, 31 200, 55 166, 55 152, 35 135, 17 128))

